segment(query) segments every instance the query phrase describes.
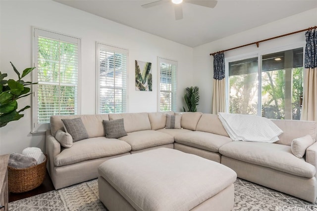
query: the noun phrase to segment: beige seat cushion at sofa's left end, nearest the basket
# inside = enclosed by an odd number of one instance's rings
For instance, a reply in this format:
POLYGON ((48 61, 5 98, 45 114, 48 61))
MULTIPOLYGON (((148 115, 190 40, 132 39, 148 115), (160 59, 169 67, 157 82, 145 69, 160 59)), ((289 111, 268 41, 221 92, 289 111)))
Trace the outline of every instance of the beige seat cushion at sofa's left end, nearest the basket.
POLYGON ((115 138, 87 138, 74 142, 71 148, 64 148, 54 157, 54 165, 61 167, 130 151, 131 146, 129 144, 115 138))

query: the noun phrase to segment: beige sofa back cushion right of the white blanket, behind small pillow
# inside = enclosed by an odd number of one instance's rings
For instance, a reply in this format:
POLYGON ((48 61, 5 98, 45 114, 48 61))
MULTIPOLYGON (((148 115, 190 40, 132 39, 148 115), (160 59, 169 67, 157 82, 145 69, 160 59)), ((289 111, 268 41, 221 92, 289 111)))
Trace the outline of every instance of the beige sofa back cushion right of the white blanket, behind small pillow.
POLYGON ((271 120, 277 127, 283 130, 283 133, 278 136, 277 144, 291 146, 293 139, 305 135, 311 135, 314 142, 316 141, 317 125, 314 121, 299 121, 299 120, 271 120))

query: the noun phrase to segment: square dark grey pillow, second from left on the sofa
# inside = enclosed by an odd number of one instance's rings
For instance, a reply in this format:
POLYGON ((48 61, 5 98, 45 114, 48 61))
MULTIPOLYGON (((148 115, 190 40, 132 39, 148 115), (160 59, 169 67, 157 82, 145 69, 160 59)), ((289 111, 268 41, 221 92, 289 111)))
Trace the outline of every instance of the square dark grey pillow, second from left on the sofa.
POLYGON ((106 138, 120 138, 126 136, 123 119, 103 120, 106 138))

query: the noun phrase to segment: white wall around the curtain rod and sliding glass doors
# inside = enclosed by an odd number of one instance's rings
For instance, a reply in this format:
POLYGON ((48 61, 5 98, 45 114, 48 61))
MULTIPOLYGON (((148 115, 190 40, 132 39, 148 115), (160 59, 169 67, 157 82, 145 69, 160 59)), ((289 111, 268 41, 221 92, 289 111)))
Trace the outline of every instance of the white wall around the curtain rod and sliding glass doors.
MULTIPOLYGON (((254 17, 256 18, 256 17, 254 17)), ((216 20, 215 20, 216 21, 216 20)), ((226 37, 214 42, 200 45, 194 48, 194 85, 200 87, 200 105, 198 110, 204 113, 211 113, 212 89, 213 89, 213 57, 210 53, 229 49, 239 45, 258 42, 271 37, 299 31, 317 24, 317 8, 299 13, 287 18, 265 24, 263 26, 226 37)), ((259 48, 256 45, 238 48, 224 53, 225 58, 239 55, 257 53, 286 47, 287 45, 305 43, 305 32, 290 35, 287 37, 261 42, 259 48)))

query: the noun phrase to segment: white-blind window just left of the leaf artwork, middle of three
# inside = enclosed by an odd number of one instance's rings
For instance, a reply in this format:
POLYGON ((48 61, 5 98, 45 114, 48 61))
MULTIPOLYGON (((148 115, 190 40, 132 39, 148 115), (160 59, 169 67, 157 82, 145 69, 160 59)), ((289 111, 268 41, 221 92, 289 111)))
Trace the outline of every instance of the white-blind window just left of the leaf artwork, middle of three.
POLYGON ((98 113, 127 111, 128 50, 97 43, 98 113))

